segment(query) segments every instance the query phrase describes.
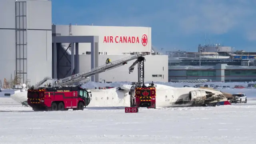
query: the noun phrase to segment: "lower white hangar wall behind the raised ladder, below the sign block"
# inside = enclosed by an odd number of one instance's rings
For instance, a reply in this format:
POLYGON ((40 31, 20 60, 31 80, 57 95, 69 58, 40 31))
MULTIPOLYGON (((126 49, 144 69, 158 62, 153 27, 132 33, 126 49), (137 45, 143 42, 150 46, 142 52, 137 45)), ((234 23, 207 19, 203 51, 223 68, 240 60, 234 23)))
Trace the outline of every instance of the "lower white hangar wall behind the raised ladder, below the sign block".
MULTIPOLYGON (((99 65, 104 65, 107 58, 111 61, 125 58, 128 55, 100 55, 99 65)), ((145 56, 145 82, 168 82, 168 56, 149 55, 145 56)), ((80 72, 90 70, 90 55, 80 55, 80 72)), ((135 66, 134 72, 129 74, 128 68, 135 60, 128 62, 124 66, 108 70, 99 74, 100 82, 137 82, 138 81, 138 65, 135 66)))

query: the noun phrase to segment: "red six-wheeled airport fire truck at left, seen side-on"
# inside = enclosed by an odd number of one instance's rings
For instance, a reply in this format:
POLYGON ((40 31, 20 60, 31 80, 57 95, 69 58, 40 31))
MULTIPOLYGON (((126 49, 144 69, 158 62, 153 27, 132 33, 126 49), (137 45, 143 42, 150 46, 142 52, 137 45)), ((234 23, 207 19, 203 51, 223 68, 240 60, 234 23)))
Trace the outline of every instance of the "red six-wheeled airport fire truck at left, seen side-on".
POLYGON ((84 107, 90 103, 91 96, 91 92, 80 86, 32 87, 28 89, 28 105, 34 111, 84 110, 84 107))

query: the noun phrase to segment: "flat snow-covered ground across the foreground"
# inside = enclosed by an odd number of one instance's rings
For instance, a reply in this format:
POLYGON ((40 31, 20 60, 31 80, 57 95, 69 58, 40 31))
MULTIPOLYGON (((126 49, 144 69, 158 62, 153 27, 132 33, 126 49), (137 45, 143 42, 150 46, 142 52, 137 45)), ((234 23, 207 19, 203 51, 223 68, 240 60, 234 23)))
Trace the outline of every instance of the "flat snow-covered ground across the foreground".
POLYGON ((256 106, 32 112, 0 107, 0 144, 252 144, 256 106), (19 111, 19 112, 8 112, 19 111))

